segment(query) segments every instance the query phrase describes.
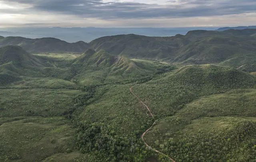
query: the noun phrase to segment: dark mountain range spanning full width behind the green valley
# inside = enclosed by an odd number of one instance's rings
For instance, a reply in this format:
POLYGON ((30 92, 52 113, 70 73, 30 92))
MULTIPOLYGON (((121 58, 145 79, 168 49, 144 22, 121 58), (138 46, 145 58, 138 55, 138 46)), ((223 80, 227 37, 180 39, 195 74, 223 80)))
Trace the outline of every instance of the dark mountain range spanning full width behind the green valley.
MULTIPOLYGON (((194 30, 172 37, 114 35, 100 37, 90 43, 67 43, 56 38, 0 37, 0 47, 6 45, 18 45, 30 53, 83 53, 87 49, 97 52, 104 50, 114 56, 182 64, 210 63, 239 67, 242 64, 254 64, 256 61, 256 29, 194 30)), ((116 59, 115 57, 114 60, 116 59)))

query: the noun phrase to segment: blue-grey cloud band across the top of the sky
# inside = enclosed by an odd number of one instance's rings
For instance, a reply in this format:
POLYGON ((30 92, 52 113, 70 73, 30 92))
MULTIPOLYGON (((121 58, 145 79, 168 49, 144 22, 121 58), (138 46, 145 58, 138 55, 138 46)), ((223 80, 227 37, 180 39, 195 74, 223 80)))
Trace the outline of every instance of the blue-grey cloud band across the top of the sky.
MULTIPOLYGON (((255 0, 179 0, 180 5, 104 2, 103 0, 5 0, 31 4, 30 11, 58 12, 82 18, 183 18, 256 12, 255 0)), ((1 10, 0 10, 1 12, 1 10)))

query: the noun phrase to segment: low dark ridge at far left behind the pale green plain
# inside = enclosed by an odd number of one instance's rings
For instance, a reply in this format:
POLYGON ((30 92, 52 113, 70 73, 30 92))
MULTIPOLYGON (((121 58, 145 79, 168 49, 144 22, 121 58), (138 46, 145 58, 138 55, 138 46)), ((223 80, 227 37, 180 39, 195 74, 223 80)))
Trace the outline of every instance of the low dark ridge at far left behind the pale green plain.
POLYGON ((0 39, 0 47, 6 45, 20 46, 30 53, 82 53, 90 47, 88 43, 83 41, 67 43, 56 38, 5 37, 0 39))

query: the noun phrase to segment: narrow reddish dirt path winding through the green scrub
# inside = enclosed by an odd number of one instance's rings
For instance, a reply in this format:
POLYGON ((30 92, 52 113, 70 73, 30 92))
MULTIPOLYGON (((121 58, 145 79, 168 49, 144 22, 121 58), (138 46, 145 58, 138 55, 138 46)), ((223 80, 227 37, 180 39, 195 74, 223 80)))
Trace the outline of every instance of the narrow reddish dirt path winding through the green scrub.
POLYGON ((132 87, 130 87, 130 92, 131 92, 131 94, 132 94, 133 96, 135 96, 136 98, 138 98, 138 100, 142 103, 142 105, 144 105, 144 106, 148 109, 148 112, 150 113, 150 116, 154 119, 154 123, 151 125, 151 127, 148 128, 148 129, 141 135, 141 139, 143 140, 144 144, 145 144, 150 150, 153 150, 154 152, 157 152, 157 153, 159 153, 159 154, 162 154, 162 155, 168 157, 172 162, 175 162, 170 156, 168 156, 168 155, 164 154, 163 152, 160 152, 160 151, 158 151, 158 150, 156 150, 156 149, 153 149, 153 148, 152 148, 151 146, 149 146, 149 145, 147 144, 147 142, 144 140, 144 135, 145 135, 148 131, 150 131, 150 129, 152 129, 152 127, 153 127, 153 126, 155 125, 155 123, 156 123, 156 119, 155 119, 154 115, 152 114, 152 112, 150 111, 150 108, 148 107, 148 105, 146 105, 146 104, 139 98, 139 96, 137 96, 136 94, 134 94, 134 92, 133 92, 133 90, 132 90, 132 87))

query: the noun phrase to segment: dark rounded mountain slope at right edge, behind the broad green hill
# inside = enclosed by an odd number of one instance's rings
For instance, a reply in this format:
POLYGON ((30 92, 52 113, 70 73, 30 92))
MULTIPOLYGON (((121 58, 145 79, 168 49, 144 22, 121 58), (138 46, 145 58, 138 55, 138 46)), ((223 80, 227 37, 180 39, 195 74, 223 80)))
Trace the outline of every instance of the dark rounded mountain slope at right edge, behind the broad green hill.
POLYGON ((255 39, 251 36, 211 36, 192 42, 178 51, 174 62, 188 64, 220 63, 238 66, 255 61, 255 39))

